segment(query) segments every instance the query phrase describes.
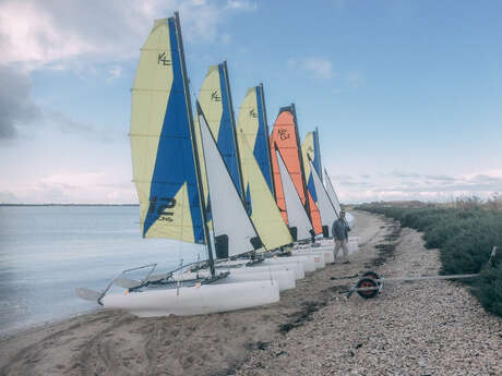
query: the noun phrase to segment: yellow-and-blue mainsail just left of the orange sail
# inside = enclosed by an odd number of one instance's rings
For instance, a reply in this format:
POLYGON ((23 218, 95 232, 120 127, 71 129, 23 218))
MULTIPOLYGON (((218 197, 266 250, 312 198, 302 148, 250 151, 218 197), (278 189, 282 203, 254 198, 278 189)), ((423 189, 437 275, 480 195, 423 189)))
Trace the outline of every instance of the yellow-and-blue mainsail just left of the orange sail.
MULTIPOLYGON (((274 193, 263 85, 250 87, 246 93, 237 121, 237 134, 239 135, 240 132, 251 147, 268 190, 274 193)), ((239 150, 241 151, 240 144, 239 150)))

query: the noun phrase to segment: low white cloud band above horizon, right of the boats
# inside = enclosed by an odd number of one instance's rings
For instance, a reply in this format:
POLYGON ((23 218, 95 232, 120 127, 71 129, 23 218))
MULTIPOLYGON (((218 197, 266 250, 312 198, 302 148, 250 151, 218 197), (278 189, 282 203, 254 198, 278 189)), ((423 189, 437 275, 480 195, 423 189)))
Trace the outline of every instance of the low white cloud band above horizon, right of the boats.
POLYGON ((444 202, 459 196, 486 199, 502 192, 502 170, 459 175, 392 171, 350 177, 333 175, 331 179, 345 203, 391 199, 444 202))

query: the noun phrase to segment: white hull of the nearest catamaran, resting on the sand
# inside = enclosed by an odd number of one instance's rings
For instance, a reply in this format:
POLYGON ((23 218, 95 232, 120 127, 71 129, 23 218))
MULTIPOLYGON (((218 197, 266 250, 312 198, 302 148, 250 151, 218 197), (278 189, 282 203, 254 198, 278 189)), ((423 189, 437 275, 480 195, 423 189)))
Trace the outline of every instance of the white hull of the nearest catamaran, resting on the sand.
POLYGON ((101 300, 105 308, 124 310, 139 317, 204 315, 278 301, 279 289, 275 280, 147 290, 109 294, 101 300))

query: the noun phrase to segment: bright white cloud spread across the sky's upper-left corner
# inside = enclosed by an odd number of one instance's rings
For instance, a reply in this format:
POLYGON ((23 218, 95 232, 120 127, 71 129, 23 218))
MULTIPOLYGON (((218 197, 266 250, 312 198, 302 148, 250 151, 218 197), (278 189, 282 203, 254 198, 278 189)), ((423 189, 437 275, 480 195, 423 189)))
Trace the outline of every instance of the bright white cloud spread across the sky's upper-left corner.
POLYGON ((229 0, 55 0, 0 3, 0 64, 68 69, 82 58, 120 61, 138 56, 154 19, 179 10, 183 37, 214 41, 220 24, 254 2, 229 0), (92 26, 91 26, 92 25, 92 26))

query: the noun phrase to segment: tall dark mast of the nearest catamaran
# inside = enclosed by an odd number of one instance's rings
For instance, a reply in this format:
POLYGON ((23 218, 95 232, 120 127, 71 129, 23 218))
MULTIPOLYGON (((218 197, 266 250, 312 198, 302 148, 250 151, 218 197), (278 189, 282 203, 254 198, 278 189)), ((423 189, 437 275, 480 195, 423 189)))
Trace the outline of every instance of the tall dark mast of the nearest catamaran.
POLYGON ((198 190, 199 201, 201 203, 201 210, 202 210, 202 226, 204 227, 204 236, 205 236, 205 242, 207 245, 207 255, 210 258, 211 275, 215 277, 216 271, 214 268, 213 246, 211 244, 210 229, 207 228, 207 213, 206 213, 206 207, 205 207, 204 194, 202 192, 201 165, 199 161, 199 151, 198 151, 196 141, 195 141, 195 130, 193 128, 192 102, 190 100, 190 90, 189 90, 189 84, 188 84, 188 77, 187 77, 187 65, 184 62, 183 40, 181 38, 181 26, 180 26, 180 19, 179 19, 178 12, 175 12, 175 26, 176 26, 176 36, 178 38, 179 53, 180 53, 180 60, 181 60, 181 75, 183 77, 184 97, 187 98, 187 112, 189 114, 190 135, 191 135, 190 138, 192 140, 193 157, 195 161, 195 175, 196 175, 196 182, 199 185, 199 190, 198 190))

